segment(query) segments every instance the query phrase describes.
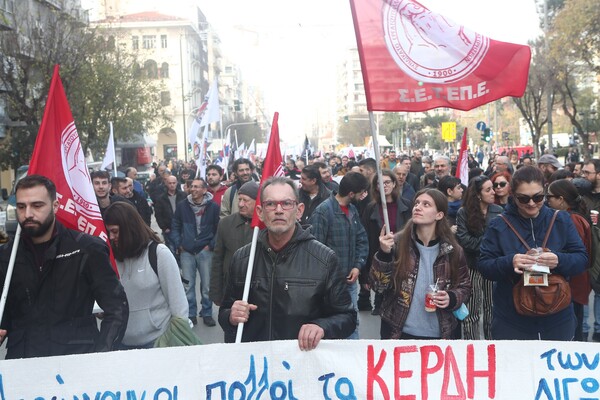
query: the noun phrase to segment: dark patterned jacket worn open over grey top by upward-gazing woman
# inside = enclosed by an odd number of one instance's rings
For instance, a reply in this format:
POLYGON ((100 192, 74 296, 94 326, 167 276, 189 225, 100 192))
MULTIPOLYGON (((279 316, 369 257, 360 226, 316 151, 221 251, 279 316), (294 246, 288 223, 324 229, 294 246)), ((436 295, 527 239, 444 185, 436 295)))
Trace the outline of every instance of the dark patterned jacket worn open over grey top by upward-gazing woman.
MULTIPOLYGON (((402 282, 400 294, 394 289, 393 276, 396 269, 396 261, 392 260, 391 254, 381 251, 373 256, 371 265, 371 283, 372 289, 378 293, 383 293, 383 302, 381 304, 381 319, 392 327, 391 339, 399 339, 402 335, 402 328, 408 317, 408 312, 416 301, 416 307, 424 307, 425 293, 414 297, 415 283, 419 273, 419 250, 416 245, 416 236, 414 229, 411 232, 412 240, 410 246, 411 272, 410 278, 402 282)), ((396 235, 398 238, 399 235, 396 235)), ((439 254, 433 263, 433 276, 438 282, 438 288, 448 292, 450 303, 447 308, 436 310, 438 322, 440 325, 440 334, 442 339, 452 339, 453 331, 458 321, 452 314, 454 310, 460 308, 466 303, 471 295, 471 279, 469 270, 462 248, 454 248, 450 243, 441 241, 439 254), (460 265, 458 268, 458 282, 452 282, 452 266, 450 265, 449 255, 457 251, 460 253, 460 265)))

